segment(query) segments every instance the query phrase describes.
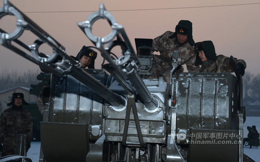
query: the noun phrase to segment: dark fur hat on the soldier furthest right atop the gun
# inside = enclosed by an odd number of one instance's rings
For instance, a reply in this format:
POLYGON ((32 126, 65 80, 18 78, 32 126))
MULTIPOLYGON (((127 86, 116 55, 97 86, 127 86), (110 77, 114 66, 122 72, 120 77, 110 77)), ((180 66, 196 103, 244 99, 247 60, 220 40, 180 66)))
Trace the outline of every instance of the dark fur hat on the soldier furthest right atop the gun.
POLYGON ((198 56, 199 51, 204 51, 205 57, 208 60, 216 60, 217 54, 215 52, 215 47, 211 40, 205 40, 203 42, 197 42, 194 45, 194 52, 196 53, 196 61, 195 65, 202 65, 202 61, 200 60, 200 57, 198 56))

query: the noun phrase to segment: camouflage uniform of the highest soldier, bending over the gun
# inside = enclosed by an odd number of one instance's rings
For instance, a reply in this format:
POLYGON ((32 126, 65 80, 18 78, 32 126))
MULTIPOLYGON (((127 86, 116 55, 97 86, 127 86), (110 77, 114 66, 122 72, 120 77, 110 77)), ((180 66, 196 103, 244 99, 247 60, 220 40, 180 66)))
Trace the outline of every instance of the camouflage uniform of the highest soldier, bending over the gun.
MULTIPOLYGON (((188 42, 185 44, 178 44, 176 38, 169 39, 168 36, 174 32, 167 31, 161 36, 153 39, 152 52, 159 51, 160 55, 155 55, 156 65, 153 66, 153 78, 163 76, 166 82, 169 82, 170 70, 172 69, 171 53, 178 50, 181 56, 181 65, 186 64, 188 72, 199 72, 200 67, 195 65, 196 54, 194 47, 188 42)), ((176 76, 183 72, 183 67, 179 67, 176 76)))

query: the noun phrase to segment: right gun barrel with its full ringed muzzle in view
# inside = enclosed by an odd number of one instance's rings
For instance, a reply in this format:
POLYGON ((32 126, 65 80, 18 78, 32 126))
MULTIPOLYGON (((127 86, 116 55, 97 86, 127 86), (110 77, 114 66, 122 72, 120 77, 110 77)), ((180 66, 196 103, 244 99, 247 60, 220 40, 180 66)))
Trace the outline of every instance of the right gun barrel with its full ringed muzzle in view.
MULTIPOLYGON (((152 96, 143 80, 137 73, 137 70, 135 69, 135 66, 140 67, 141 64, 135 54, 135 51, 133 50, 133 47, 123 26, 117 24, 115 18, 105 10, 103 3, 100 4, 99 11, 92 13, 85 22, 79 22, 78 26, 101 51, 104 59, 106 59, 110 65, 116 69, 114 71, 116 74, 115 76, 121 76, 121 74, 125 74, 137 90, 138 94, 140 94, 140 97, 143 99, 146 108, 149 110, 156 109, 159 105, 159 101, 152 96), (107 19, 112 28, 112 31, 109 35, 101 38, 92 34, 91 26, 98 19, 107 19), (119 38, 120 35, 122 38, 119 38), (118 41, 111 44, 115 37, 117 37, 118 41), (125 42, 122 42, 122 40, 125 42), (105 43, 110 43, 107 48, 109 51, 112 49, 112 47, 114 47, 114 45, 121 45, 121 47, 124 49, 123 55, 118 59, 113 59, 108 51, 104 49, 105 43)), ((118 82, 123 84, 123 82, 120 81, 120 78, 116 77, 118 82)), ((127 92, 131 91, 131 88, 128 88, 127 84, 123 84, 123 88, 125 88, 127 92)))

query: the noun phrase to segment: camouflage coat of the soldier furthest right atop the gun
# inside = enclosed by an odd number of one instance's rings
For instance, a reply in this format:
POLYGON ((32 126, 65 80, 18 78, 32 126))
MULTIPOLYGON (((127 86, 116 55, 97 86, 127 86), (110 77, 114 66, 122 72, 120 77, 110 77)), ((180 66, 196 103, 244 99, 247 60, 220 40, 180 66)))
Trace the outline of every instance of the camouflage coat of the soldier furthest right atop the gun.
MULTIPOLYGON (((240 60, 235 58, 237 63, 242 63, 246 68, 246 62, 244 60, 240 60)), ((202 63, 200 67, 200 72, 204 73, 232 73, 234 72, 229 64, 229 57, 224 55, 218 55, 216 61, 215 60, 207 60, 202 63)))

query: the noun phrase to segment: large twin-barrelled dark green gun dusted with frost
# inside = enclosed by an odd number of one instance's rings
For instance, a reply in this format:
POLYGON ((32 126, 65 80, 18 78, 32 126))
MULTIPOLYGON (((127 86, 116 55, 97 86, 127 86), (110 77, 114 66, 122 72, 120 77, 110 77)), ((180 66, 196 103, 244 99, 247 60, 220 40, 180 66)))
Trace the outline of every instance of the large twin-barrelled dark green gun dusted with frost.
MULTIPOLYGON (((123 26, 103 3, 78 26, 109 62, 104 68, 111 76, 103 70, 81 69, 62 45, 4 0, 0 18, 6 14, 16 16, 17 29, 11 34, 1 30, 0 43, 52 72, 39 161, 243 161, 244 108, 238 104, 238 79, 232 74, 181 73, 170 86, 162 78, 142 79, 137 70, 142 63, 123 26), (109 35, 91 33, 98 19, 107 19, 109 35), (17 39, 23 30, 40 39, 25 45, 17 39), (12 41, 32 56, 12 46, 12 41), (53 48, 52 55, 38 52, 42 43, 53 48), (122 49, 118 59, 110 55, 116 45, 122 49)), ((178 52, 172 59, 177 67, 178 52)))

